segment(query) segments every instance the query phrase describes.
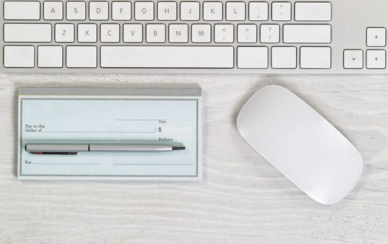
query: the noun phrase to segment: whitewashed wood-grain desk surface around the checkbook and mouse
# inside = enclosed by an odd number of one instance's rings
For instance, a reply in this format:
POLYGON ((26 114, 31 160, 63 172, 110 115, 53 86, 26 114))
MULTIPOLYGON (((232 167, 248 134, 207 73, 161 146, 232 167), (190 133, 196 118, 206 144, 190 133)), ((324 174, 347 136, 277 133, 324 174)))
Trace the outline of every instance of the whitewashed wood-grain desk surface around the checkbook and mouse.
POLYGON ((1 243, 388 243, 387 76, 25 75, 0 84, 1 243), (203 181, 17 180, 19 87, 192 84, 204 94, 203 181), (364 173, 343 201, 315 203, 239 136, 239 109, 267 84, 297 93, 359 149, 364 173))

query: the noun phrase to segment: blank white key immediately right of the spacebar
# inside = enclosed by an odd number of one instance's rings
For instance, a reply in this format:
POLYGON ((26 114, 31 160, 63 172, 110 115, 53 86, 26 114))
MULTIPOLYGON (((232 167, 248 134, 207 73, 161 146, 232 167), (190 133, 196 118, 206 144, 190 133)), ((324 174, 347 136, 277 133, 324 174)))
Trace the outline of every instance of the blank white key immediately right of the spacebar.
POLYGON ((268 68, 268 47, 238 47, 237 68, 268 68))

